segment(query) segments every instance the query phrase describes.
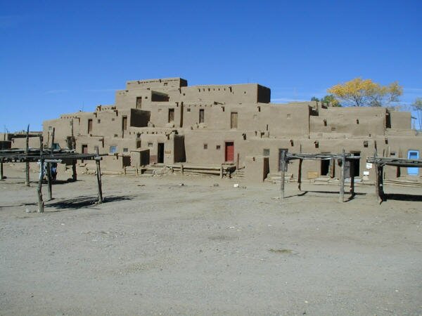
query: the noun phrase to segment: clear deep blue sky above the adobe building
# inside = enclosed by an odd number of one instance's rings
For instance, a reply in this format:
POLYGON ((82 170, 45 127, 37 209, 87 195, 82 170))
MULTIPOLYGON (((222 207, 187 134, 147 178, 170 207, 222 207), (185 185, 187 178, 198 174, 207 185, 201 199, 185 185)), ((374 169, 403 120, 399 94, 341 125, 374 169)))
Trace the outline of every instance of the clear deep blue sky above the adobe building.
POLYGON ((309 100, 354 77, 422 97, 422 1, 0 0, 0 128, 113 104, 125 81, 257 82, 309 100))

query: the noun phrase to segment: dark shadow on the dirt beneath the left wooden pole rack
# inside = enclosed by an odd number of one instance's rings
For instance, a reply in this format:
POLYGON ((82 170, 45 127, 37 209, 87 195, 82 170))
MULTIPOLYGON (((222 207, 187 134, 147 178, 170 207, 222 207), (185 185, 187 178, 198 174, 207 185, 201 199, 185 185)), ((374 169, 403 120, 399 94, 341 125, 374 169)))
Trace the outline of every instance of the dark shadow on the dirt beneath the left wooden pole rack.
MULTIPOLYGON (((119 195, 119 196, 110 195, 103 198, 103 203, 131 200, 133 198, 134 198, 133 195, 119 195)), ((46 207, 56 209, 53 212, 57 212, 57 211, 63 211, 65 209, 89 208, 89 206, 99 205, 97 204, 97 202, 98 202, 97 197, 82 196, 82 197, 75 197, 74 199, 65 199, 60 202, 49 203, 49 204, 46 204, 46 207)))

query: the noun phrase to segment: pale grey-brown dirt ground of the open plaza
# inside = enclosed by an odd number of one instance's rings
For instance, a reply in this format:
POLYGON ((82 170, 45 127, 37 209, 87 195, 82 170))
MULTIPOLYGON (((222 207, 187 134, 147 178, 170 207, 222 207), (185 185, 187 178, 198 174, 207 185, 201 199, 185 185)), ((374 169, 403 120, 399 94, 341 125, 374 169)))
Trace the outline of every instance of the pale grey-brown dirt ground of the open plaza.
POLYGON ((1 315, 422 315, 421 188, 5 173, 1 315))

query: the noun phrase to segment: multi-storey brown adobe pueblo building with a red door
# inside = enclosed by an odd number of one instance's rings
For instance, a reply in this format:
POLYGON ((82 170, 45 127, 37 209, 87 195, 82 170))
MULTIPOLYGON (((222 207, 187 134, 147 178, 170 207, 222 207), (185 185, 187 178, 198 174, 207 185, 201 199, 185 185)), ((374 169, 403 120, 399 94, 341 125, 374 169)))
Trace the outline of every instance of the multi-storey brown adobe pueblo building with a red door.
MULTIPOLYGON (((245 176, 262 181, 277 176, 281 152, 340 153, 360 156, 354 176, 373 181, 366 157, 418 158, 422 137, 411 130, 409 112, 385 107, 330 107, 316 102, 270 103, 259 84, 188 86, 185 79, 127 81, 115 105, 95 112, 63 114, 44 121, 44 142, 55 129, 60 147, 108 154, 107 171, 146 165, 245 167, 245 176)), ((297 177, 293 162, 288 176, 297 177)), ((79 170, 95 169, 89 162, 79 170)), ((302 177, 338 178, 335 161, 305 161, 302 177)), ((421 171, 385 169, 385 178, 421 182, 421 171)), ((346 177, 350 176, 347 174, 346 177)))

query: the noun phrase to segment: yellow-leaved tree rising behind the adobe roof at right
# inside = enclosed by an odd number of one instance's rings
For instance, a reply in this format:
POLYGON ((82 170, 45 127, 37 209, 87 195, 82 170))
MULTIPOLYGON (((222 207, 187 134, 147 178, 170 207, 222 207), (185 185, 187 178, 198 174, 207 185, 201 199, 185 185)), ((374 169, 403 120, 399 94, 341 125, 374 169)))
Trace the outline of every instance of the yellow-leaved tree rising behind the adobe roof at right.
POLYGON ((336 84, 328 93, 341 101, 343 105, 354 107, 381 107, 397 102, 403 94, 403 88, 397 81, 386 86, 377 84, 371 79, 355 78, 344 84, 336 84))

